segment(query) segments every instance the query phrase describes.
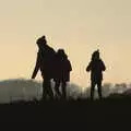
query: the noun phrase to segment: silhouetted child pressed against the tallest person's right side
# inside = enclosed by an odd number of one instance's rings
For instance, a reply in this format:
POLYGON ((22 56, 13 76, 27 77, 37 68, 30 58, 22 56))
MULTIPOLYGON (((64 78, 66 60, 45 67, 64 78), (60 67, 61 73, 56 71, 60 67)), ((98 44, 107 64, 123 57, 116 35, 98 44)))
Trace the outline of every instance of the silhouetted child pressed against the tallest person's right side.
POLYGON ((56 55, 56 78, 55 78, 55 91, 57 97, 67 98, 67 82, 70 81, 70 71, 72 71, 72 67, 70 61, 68 60, 68 56, 66 55, 63 49, 59 49, 56 55), (60 84, 61 91, 60 93, 60 84))

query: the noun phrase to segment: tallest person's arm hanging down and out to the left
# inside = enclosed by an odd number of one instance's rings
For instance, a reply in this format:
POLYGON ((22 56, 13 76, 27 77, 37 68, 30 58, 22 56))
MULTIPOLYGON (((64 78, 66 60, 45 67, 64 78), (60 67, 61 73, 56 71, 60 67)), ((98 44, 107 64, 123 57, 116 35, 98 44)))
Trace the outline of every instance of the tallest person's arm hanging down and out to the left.
POLYGON ((39 53, 38 53, 38 55, 37 55, 37 60, 36 60, 36 66, 35 66, 34 72, 33 72, 33 74, 32 74, 32 79, 35 79, 35 78, 36 78, 39 68, 40 68, 40 56, 39 56, 39 53))

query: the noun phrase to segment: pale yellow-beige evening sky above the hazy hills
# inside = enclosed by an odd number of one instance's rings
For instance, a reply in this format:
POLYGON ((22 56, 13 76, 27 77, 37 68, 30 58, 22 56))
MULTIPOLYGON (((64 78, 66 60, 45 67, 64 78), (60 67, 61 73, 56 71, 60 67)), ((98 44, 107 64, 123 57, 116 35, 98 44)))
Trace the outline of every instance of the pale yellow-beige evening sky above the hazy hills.
MULTIPOLYGON (((131 82, 130 0, 0 0, 0 80, 31 79, 36 39, 64 48, 71 82, 85 87, 85 69, 97 48, 107 71, 104 82, 131 82)), ((38 73, 36 80, 40 80, 38 73)))

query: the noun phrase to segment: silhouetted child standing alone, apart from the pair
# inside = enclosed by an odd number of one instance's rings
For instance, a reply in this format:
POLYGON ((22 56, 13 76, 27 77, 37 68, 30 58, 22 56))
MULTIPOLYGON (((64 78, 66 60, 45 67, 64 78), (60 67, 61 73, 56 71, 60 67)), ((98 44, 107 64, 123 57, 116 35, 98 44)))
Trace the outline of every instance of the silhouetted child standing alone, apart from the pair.
POLYGON ((106 70, 105 63, 103 60, 99 58, 99 51, 95 51, 92 55, 92 60, 90 64, 86 68, 86 71, 91 71, 91 98, 94 98, 94 90, 95 86, 97 85, 98 88, 98 95, 99 98, 102 99, 102 81, 103 81, 103 71, 106 70))

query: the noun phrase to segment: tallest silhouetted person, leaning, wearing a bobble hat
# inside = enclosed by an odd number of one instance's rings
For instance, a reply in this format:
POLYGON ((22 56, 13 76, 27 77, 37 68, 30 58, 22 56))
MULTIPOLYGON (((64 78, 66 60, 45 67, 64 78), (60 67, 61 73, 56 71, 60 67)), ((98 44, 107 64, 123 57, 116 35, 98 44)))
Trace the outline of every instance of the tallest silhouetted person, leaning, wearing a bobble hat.
POLYGON ((56 51, 47 45, 47 40, 45 36, 38 38, 36 44, 39 50, 37 52, 36 66, 32 79, 35 79, 38 70, 40 70, 41 76, 44 79, 43 99, 45 99, 47 95, 50 96, 50 98, 53 98, 50 80, 55 75, 53 62, 55 62, 56 51))

